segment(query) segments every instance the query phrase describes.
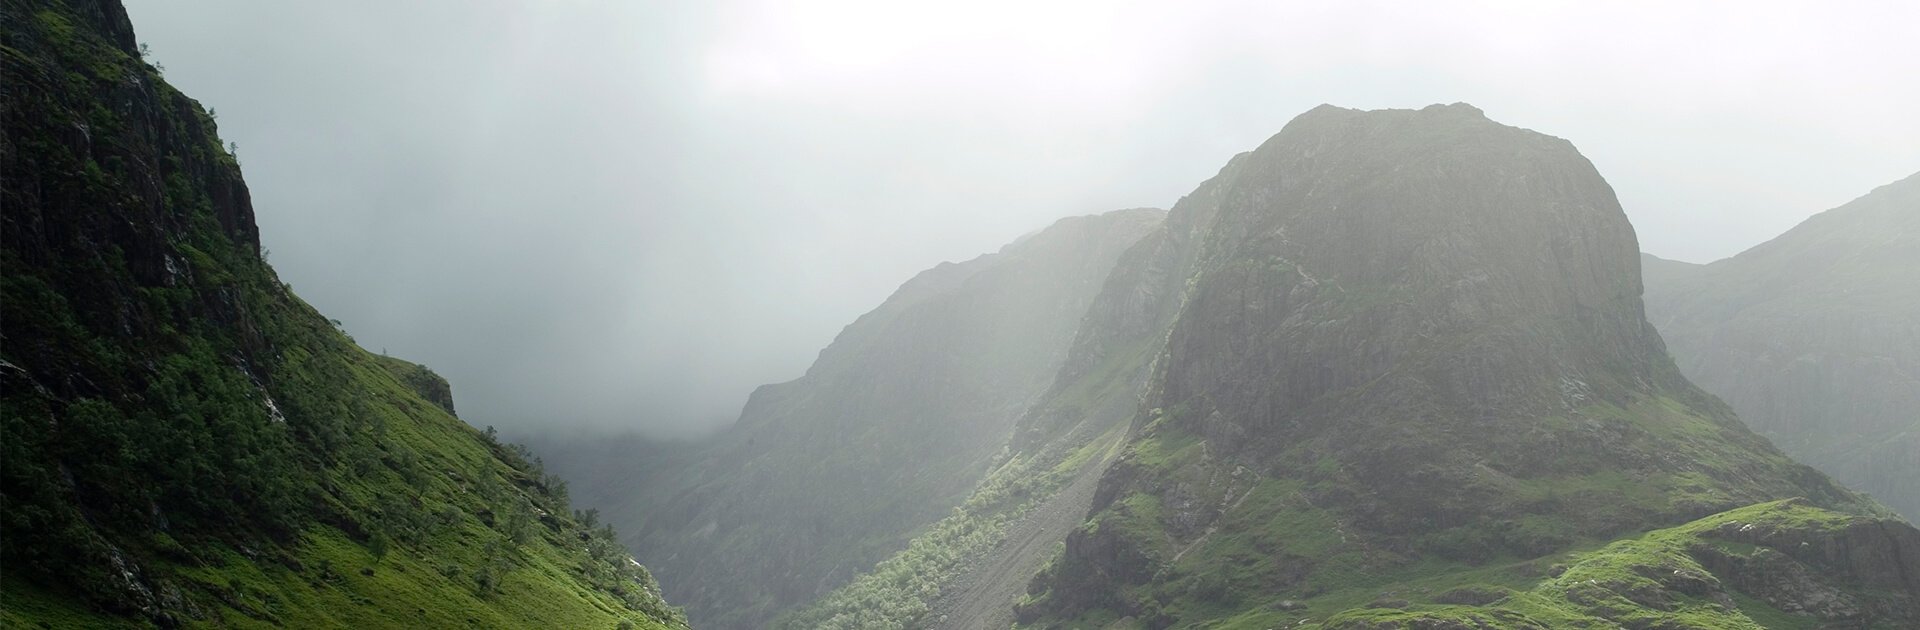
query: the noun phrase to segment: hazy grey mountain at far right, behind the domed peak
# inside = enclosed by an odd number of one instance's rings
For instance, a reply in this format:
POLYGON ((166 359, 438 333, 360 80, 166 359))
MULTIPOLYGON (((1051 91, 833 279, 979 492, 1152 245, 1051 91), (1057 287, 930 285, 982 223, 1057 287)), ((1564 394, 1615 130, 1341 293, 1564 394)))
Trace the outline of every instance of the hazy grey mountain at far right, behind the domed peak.
POLYGON ((1647 319, 1753 430, 1920 519, 1920 175, 1740 255, 1645 255, 1647 319))

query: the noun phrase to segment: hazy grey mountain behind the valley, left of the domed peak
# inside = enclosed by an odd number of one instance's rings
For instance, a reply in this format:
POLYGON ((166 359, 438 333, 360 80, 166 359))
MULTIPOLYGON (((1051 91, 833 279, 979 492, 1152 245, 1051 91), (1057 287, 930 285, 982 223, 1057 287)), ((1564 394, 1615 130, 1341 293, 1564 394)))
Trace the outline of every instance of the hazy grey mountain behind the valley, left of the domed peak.
POLYGON ((540 442, 703 628, 755 628, 939 521, 996 467, 1114 259, 1164 211, 1062 219, 916 275, 697 444, 540 442))

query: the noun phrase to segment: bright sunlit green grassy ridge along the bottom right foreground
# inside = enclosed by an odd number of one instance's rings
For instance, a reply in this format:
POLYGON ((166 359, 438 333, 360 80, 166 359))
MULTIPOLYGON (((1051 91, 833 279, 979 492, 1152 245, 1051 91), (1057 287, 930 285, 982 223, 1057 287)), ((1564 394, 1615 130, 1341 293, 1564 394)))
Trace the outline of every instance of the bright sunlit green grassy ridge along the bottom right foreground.
MULTIPOLYGON (((1309 522, 1292 545, 1338 545, 1309 522)), ((1298 599, 1231 605, 1248 576, 1194 584, 1156 613, 1092 611, 1056 628, 1907 628, 1914 588, 1891 561, 1912 528, 1786 499, 1569 551, 1480 565, 1430 561, 1348 572, 1298 599), (1198 613, 1198 615, 1192 615, 1198 613)))

